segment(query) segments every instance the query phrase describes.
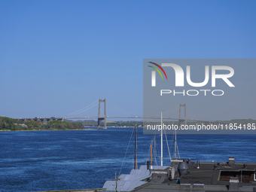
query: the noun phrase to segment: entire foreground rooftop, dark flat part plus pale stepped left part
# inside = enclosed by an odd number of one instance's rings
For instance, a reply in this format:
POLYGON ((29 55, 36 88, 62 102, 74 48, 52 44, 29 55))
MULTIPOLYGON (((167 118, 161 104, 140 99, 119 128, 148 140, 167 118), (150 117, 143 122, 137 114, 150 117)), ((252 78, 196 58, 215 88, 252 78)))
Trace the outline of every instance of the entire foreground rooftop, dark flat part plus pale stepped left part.
POLYGON ((106 181, 102 191, 256 191, 256 163, 236 163, 233 157, 228 162, 175 159, 171 166, 133 169, 106 181))

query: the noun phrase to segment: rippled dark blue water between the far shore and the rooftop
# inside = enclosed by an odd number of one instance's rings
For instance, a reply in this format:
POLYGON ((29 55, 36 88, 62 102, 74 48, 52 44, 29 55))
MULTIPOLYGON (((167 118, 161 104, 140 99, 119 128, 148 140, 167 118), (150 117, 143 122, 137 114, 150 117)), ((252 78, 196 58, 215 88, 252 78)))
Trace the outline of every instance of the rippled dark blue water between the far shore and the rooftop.
MULTIPOLYGON (((102 187, 133 168, 133 129, 0 133, 0 191, 72 190, 102 187), (123 157, 126 158, 123 161, 123 157)), ((149 158, 151 135, 138 129, 138 163, 149 158)), ((201 161, 256 161, 256 135, 178 135, 181 158, 201 161)), ((168 136, 173 149, 173 136, 168 136)), ((160 152, 160 136, 157 151, 160 152)), ((169 165, 164 142, 163 164, 169 165)), ((173 150, 171 151, 173 157, 173 150)), ((157 154, 159 156, 159 153, 157 154)), ((157 157, 159 161, 159 157, 157 157)), ((159 164, 159 162, 158 162, 159 164)))

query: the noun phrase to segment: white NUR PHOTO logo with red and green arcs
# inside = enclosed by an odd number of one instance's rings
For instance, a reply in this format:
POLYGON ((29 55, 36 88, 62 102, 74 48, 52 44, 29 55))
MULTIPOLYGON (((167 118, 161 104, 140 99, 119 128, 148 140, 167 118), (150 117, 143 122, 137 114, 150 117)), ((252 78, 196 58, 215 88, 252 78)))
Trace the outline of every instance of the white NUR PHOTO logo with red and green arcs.
MULTIPOLYGON (((190 72, 190 66, 186 66, 186 72, 184 73, 184 70, 181 68, 181 66, 175 64, 175 63, 161 63, 161 66, 157 64, 156 62, 149 62, 154 66, 149 66, 151 67, 151 87, 156 87, 158 82, 156 78, 156 72, 160 75, 160 77, 163 78, 163 75, 166 78, 166 81, 168 81, 166 72, 171 72, 174 70, 175 72, 175 87, 184 87, 184 75, 186 76, 186 81, 187 84, 190 85, 191 87, 204 87, 207 84, 209 84, 209 79, 210 79, 210 72, 211 72, 211 87, 216 87, 216 79, 221 79, 224 81, 227 86, 229 87, 235 87, 232 82, 230 81, 230 78, 233 77, 234 75, 234 70, 230 66, 205 66, 204 70, 204 80, 202 82, 193 82, 191 80, 191 72, 190 72), (164 70, 164 69, 165 70, 164 70), (225 72, 225 74, 220 74, 218 72, 225 72), (162 75, 163 73, 163 75, 162 75)), ((160 96, 163 96, 163 94, 170 94, 172 93, 173 96, 177 94, 181 94, 183 96, 197 96, 200 93, 203 93, 204 96, 207 95, 208 92, 212 93, 212 96, 223 96, 224 95, 224 90, 182 90, 181 92, 177 92, 175 90, 160 90, 160 96)))

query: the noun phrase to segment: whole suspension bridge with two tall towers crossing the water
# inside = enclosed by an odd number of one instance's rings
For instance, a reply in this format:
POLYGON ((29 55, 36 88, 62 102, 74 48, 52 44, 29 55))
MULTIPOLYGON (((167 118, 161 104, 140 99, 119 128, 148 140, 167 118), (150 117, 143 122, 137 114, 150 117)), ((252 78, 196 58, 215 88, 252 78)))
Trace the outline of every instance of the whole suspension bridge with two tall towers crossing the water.
MULTIPOLYGON (((163 120, 177 120, 179 124, 184 123, 186 124, 187 121, 194 121, 194 122, 203 122, 203 123, 209 123, 209 124, 215 124, 215 123, 226 123, 226 122, 220 122, 220 121, 213 121, 213 120, 198 120, 198 119, 187 119, 187 114, 186 114, 186 104, 178 105, 179 107, 179 113, 178 113, 178 117, 163 117, 163 120), (184 117, 181 117, 181 107, 184 108, 184 117)), ((178 109, 176 107, 176 109, 178 109)), ((92 102, 90 105, 87 105, 84 108, 81 108, 78 111, 75 111, 69 115, 67 115, 66 117, 34 117, 34 118, 16 118, 17 120, 41 120, 41 121, 50 121, 50 120, 78 120, 78 119, 97 119, 98 120, 98 124, 97 124, 97 129, 106 129, 107 128, 107 119, 152 119, 152 120, 157 120, 160 119, 160 117, 143 117, 143 116, 137 116, 137 115, 131 115, 130 116, 107 116, 106 114, 106 99, 97 99, 95 102, 92 102), (104 103, 104 114, 101 115, 101 103, 104 103), (81 114, 84 111, 88 111, 90 108, 95 107, 96 105, 98 105, 98 115, 97 116, 84 116, 84 117, 74 117, 74 115, 77 114, 81 114), (100 126, 100 122, 104 121, 104 126, 100 126)), ((127 113, 127 111, 126 111, 127 113)), ((128 112, 129 113, 129 112, 128 112)))

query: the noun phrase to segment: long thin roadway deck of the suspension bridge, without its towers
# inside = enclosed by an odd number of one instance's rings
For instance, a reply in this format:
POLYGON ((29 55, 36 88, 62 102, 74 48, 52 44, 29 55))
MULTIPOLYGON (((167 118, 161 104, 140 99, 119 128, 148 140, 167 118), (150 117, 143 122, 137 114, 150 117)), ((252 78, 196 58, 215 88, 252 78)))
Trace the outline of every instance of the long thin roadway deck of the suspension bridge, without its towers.
MULTIPOLYGON (((65 120, 65 119, 102 119, 104 120, 105 117, 98 117, 98 116, 94 116, 94 117, 38 117, 38 118, 16 118, 16 120, 41 120, 41 121, 49 121, 49 120, 65 120)), ((106 117, 106 118, 111 118, 111 119, 160 119, 160 117, 106 117)), ((172 117, 163 117, 163 120, 185 120, 185 119, 179 119, 179 118, 172 118, 172 117)), ((204 122, 204 123, 228 123, 228 122, 220 122, 220 121, 216 121, 216 120, 195 120, 195 119, 186 119, 188 121, 196 121, 196 122, 204 122)))

